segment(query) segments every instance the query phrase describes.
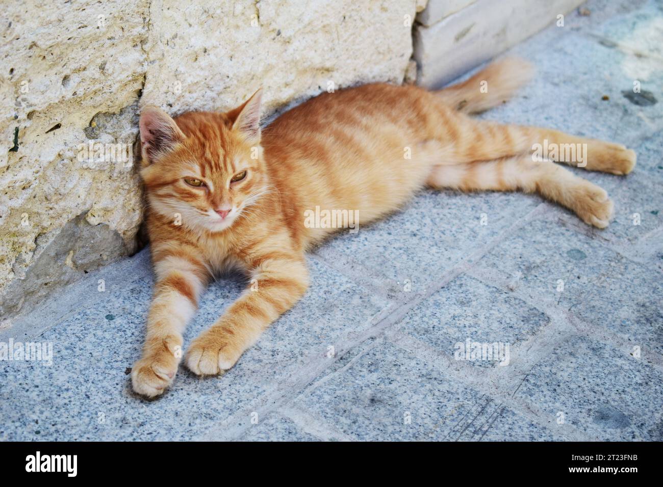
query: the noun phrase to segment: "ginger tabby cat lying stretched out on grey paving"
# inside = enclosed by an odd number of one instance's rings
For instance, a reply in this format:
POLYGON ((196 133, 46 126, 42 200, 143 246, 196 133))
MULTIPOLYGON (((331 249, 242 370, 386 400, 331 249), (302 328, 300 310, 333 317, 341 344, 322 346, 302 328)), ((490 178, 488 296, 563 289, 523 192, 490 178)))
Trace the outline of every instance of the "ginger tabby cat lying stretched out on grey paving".
POLYGON ((587 144, 585 169, 613 174, 631 172, 633 150, 466 115, 502 103, 530 72, 526 62, 507 59, 441 91, 374 83, 323 93, 262 133, 261 91, 227 113, 172 119, 146 107, 141 176, 156 285, 143 358, 131 372, 135 392, 154 397, 172 383, 182 332, 213 273, 239 268, 257 280, 257 290, 247 289, 190 345, 186 364, 198 375, 231 368, 302 298, 304 252, 334 230, 304 225, 305 211, 316 206, 358 210, 364 224, 426 185, 536 191, 585 223, 606 227, 613 211, 607 193, 554 162, 535 160, 533 148, 587 144))

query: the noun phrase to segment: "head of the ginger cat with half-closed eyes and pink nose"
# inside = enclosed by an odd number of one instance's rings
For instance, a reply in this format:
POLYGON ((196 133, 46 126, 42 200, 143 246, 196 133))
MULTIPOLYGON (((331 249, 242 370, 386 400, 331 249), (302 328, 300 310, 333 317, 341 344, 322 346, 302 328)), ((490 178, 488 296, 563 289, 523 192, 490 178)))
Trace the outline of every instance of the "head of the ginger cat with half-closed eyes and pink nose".
POLYGON ((190 112, 176 120, 141 112, 141 177, 156 213, 193 231, 223 231, 267 192, 258 90, 226 113, 190 112))

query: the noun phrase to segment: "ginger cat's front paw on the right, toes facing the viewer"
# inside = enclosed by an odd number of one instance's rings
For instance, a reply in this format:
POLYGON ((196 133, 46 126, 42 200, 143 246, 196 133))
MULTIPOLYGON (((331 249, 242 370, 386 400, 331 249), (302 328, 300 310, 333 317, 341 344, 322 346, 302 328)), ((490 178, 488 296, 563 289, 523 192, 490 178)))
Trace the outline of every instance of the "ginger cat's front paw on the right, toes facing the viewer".
POLYGON ((228 370, 241 355, 234 333, 213 327, 193 341, 186 352, 186 366, 199 376, 215 376, 228 370))

